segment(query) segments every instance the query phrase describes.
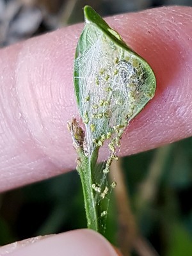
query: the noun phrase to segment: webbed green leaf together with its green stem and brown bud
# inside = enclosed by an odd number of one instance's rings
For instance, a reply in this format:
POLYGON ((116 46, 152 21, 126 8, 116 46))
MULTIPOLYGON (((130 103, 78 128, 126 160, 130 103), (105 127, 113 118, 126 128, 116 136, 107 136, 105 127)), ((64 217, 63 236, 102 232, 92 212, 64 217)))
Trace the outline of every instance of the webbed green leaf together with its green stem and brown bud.
POLYGON ((84 18, 74 61, 74 87, 85 131, 76 118, 68 128, 79 156, 77 171, 88 227, 102 232, 107 214, 104 201, 115 187, 115 182, 111 186, 106 182, 109 166, 118 158, 116 148, 125 127, 154 97, 156 78, 148 63, 90 6, 84 7, 84 18), (104 141, 109 154, 104 169, 98 171, 97 157, 104 141))

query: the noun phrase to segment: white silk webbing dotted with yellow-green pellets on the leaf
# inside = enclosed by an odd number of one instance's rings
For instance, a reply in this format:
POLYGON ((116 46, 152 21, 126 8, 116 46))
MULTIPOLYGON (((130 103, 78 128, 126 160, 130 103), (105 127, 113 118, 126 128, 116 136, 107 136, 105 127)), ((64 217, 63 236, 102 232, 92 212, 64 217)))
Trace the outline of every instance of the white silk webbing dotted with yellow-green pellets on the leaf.
MULTIPOLYGON (((88 31, 86 33, 86 40, 92 46, 83 53, 79 52, 75 65, 79 68, 79 76, 75 79, 81 79, 79 109, 83 109, 81 116, 85 125, 88 156, 92 156, 96 147, 102 147, 104 141, 108 145, 108 158, 100 170, 103 175, 98 184, 92 185, 96 192, 95 200, 100 202, 108 195, 108 184, 106 188, 103 187, 111 162, 118 159, 116 151, 125 127, 142 104, 145 105, 152 97, 152 92, 150 88, 143 88, 143 84, 150 81, 145 76, 145 65, 142 66, 132 52, 116 47, 98 29, 95 29, 96 42, 88 31)), ((93 33, 92 28, 92 36, 93 33)))

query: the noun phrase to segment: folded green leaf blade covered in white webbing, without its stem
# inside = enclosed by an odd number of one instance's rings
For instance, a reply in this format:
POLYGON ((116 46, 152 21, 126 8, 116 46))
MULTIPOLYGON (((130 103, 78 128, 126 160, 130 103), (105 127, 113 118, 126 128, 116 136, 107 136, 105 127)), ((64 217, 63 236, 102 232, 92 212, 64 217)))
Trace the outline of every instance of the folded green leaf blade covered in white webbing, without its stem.
POLYGON ((74 85, 92 154, 110 134, 120 139, 127 124, 154 97, 156 78, 148 63, 90 6, 84 7, 84 17, 74 85))

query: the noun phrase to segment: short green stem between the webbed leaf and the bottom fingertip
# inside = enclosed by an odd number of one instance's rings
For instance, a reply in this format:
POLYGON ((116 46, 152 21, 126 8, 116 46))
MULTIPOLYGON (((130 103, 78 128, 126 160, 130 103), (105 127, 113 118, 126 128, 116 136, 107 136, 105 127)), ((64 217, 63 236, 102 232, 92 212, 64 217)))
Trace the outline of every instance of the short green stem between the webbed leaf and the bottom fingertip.
POLYGON ((77 172, 81 177, 81 183, 83 187, 84 196, 84 208, 86 211, 86 220, 88 228, 99 232, 99 221, 98 221, 98 211, 97 204, 95 202, 95 192, 93 191, 93 170, 97 162, 99 148, 97 148, 92 157, 87 157, 84 155, 83 150, 79 149, 77 154, 79 155, 80 163, 77 165, 77 172))

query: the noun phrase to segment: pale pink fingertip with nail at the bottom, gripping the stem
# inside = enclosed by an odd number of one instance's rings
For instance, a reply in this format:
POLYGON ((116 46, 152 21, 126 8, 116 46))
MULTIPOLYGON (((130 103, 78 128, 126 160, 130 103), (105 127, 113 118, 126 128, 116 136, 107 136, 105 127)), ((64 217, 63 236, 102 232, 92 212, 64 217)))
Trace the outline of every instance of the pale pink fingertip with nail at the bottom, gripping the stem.
POLYGON ((34 237, 0 248, 1 255, 12 256, 117 256, 111 244, 92 230, 73 230, 63 234, 34 237))

